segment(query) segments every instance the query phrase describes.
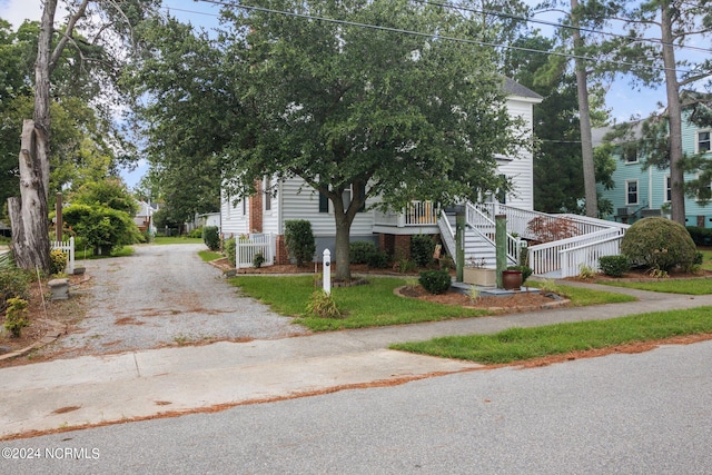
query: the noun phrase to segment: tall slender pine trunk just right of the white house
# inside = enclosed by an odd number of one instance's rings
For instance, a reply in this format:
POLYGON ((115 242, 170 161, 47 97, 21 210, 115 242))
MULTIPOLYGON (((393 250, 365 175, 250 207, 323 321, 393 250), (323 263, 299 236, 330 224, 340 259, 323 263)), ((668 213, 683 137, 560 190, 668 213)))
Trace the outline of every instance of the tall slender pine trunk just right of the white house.
MULTIPOLYGON (((575 10, 578 8, 577 0, 571 0, 571 12, 573 21, 573 41, 574 53, 583 47, 578 20, 576 20, 575 10)), ((581 157, 583 160, 583 187, 586 200, 586 216, 591 218, 599 217, 599 197, 596 195, 596 174, 593 161, 593 140, 591 138, 591 107, 589 105, 589 77, 586 73, 586 65, 578 56, 574 58, 576 70, 576 89, 578 96, 578 123, 581 127, 581 157)))

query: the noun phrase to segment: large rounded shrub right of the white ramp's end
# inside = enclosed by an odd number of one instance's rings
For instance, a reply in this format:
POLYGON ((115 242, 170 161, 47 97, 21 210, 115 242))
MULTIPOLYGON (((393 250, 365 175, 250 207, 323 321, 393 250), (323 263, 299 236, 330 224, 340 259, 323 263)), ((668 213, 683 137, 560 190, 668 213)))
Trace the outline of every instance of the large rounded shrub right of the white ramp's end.
POLYGON ((696 250, 684 226, 657 217, 635 221, 621 241, 621 253, 632 263, 664 271, 675 267, 689 270, 696 250))

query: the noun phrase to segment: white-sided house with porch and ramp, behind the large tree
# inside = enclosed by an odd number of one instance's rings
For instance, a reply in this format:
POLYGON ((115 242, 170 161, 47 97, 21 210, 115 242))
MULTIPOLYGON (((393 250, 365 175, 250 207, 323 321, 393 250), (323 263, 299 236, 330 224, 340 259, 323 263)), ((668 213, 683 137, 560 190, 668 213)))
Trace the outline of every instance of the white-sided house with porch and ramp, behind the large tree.
MULTIPOLYGON (((506 106, 511 116, 523 119, 525 131, 532 133, 533 108, 543 98, 511 79, 505 81, 504 87, 508 95, 506 106)), ((520 264, 522 246, 532 243, 535 246, 528 248, 528 265, 535 274, 575 275, 580 261, 597 268, 597 256, 601 253, 615 253, 610 250, 610 243, 620 239, 621 227, 602 225, 599 220, 583 217, 536 212, 533 168, 532 152, 526 150, 515 157, 497 157, 497 171, 512 182, 512 191, 506 196, 483 196, 478 204, 463 204, 467 222, 465 259, 495 267, 494 220, 497 215, 506 215, 508 264, 520 264), (553 222, 557 219, 565 219, 567 228, 575 229, 572 235, 561 243, 538 243, 538 236, 530 229, 528 224, 532 220, 553 222), (602 239, 609 243, 605 250, 592 248, 602 239), (573 273, 572 269, 576 271, 573 273)), ((454 215, 444 210, 441 212, 436 204, 429 201, 412 201, 406 209, 390 212, 369 209, 368 205, 376 202, 376 199, 377 197, 369 198, 366 209, 354 219, 350 228, 352 241, 372 241, 392 255, 407 256, 411 236, 433 235, 439 238, 449 255, 455 255, 454 215)), ((266 264, 288 263, 284 245, 285 222, 295 219, 310 221, 317 244, 316 260, 320 260, 325 248, 334 250, 336 227, 329 201, 300 178, 265 178, 258 192, 249 198, 236 201, 227 194, 221 197, 222 235, 226 238, 241 237, 243 240, 257 235, 256 244, 274 243, 274 249, 267 251, 270 257, 266 264), (265 239, 265 235, 270 235, 271 238, 265 239)), ((251 258, 247 255, 244 263, 238 263, 238 267, 249 267, 250 263, 251 258)))

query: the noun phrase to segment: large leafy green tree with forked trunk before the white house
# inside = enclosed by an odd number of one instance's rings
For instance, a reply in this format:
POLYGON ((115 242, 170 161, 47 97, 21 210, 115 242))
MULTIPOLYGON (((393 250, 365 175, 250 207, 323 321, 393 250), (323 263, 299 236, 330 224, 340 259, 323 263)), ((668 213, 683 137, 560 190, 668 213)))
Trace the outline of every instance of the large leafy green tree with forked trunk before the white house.
POLYGON ((165 160, 190 146, 192 164, 216 157, 236 197, 264 176, 304 179, 333 204, 342 278, 350 277, 350 224, 368 197, 447 205, 504 186, 495 156, 528 145, 506 109, 504 78, 487 49, 441 39, 475 38, 475 22, 406 0, 273 2, 288 14, 251 4, 224 11, 214 46, 165 24, 181 36, 146 62, 161 78, 147 92, 149 108, 162 109, 151 130, 166 131, 165 160), (195 144, 180 144, 186 135, 195 144))

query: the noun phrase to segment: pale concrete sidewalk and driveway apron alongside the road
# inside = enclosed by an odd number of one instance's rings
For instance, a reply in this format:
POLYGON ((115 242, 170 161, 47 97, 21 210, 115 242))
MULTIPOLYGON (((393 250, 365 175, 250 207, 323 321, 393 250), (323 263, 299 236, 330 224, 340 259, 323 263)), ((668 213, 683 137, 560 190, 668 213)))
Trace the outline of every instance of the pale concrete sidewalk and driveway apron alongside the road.
POLYGON ((85 356, 0 369, 0 437, 397 384, 479 367, 386 349, 392 343, 712 305, 712 296, 595 287, 641 300, 85 356))

